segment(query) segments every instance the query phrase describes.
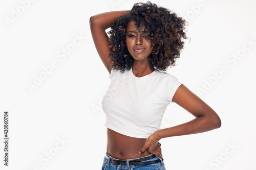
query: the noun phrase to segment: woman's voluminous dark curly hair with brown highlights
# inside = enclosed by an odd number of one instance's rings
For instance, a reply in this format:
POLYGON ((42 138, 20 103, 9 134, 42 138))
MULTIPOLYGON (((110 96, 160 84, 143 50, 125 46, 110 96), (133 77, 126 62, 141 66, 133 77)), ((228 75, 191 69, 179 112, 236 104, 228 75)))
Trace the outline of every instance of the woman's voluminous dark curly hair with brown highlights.
POLYGON ((166 71, 175 66, 186 39, 186 21, 170 10, 158 7, 151 2, 136 3, 132 10, 114 19, 108 32, 108 46, 111 48, 109 60, 114 69, 130 70, 134 58, 125 46, 126 29, 130 21, 136 22, 137 28, 144 28, 143 34, 151 39, 153 51, 148 57, 151 68, 166 71))

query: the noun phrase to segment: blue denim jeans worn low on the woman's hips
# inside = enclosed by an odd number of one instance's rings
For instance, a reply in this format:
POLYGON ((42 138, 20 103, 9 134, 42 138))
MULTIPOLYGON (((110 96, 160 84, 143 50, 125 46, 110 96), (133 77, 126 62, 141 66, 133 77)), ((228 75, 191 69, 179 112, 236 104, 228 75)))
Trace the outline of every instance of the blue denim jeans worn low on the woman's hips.
MULTIPOLYGON (((148 156, 145 156, 145 157, 148 157, 148 156)), ((102 168, 101 168, 102 170, 105 170, 105 169, 108 169, 108 170, 116 170, 116 169, 122 169, 122 170, 143 170, 143 169, 145 169, 145 170, 166 170, 164 167, 164 162, 159 157, 155 157, 153 159, 142 161, 142 162, 147 162, 147 161, 153 161, 153 160, 157 160, 157 159, 161 160, 161 162, 149 164, 149 165, 129 165, 129 163, 127 163, 127 165, 115 165, 115 164, 112 164, 112 162, 110 161, 110 158, 115 159, 106 153, 104 160, 103 160, 102 168)), ((129 162, 131 160, 136 160, 136 159, 126 159, 125 161, 129 162)))

